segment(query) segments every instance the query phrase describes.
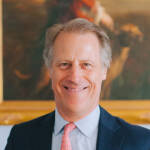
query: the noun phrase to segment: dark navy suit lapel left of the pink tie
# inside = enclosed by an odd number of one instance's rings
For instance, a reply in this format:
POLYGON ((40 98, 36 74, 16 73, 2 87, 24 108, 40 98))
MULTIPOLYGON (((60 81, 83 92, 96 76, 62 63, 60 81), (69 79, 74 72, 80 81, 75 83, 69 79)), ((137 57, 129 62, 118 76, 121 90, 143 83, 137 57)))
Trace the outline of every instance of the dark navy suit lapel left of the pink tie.
POLYGON ((31 150, 51 150, 54 122, 55 113, 52 112, 45 117, 36 129, 33 129, 33 138, 30 138, 30 145, 33 146, 31 150))

